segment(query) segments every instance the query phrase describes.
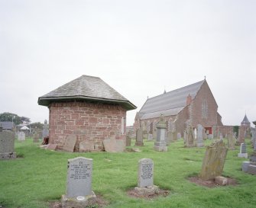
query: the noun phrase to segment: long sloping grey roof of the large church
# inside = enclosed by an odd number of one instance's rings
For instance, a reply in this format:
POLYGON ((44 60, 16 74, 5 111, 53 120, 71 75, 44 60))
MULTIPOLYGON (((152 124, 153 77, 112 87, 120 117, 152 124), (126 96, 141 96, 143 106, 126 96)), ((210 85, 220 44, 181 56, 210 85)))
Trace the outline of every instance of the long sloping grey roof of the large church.
POLYGON ((139 118, 144 120, 160 117, 160 114, 164 114, 164 116, 177 115, 180 110, 183 110, 183 108, 186 107, 187 96, 190 94, 192 99, 195 98, 197 92, 205 81, 206 80, 204 79, 203 81, 196 82, 192 85, 187 85, 183 88, 178 88, 153 98, 148 98, 138 112, 139 118))

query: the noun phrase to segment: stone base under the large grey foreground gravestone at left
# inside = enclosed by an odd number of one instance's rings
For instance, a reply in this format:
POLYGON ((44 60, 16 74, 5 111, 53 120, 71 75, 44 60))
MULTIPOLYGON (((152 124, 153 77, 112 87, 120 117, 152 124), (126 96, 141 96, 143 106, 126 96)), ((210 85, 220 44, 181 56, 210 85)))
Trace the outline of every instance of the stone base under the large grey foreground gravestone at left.
POLYGON ((83 200, 77 200, 76 197, 68 198, 66 195, 62 195, 61 205, 62 208, 84 208, 86 206, 93 206, 96 205, 96 194, 92 191, 92 195, 84 196, 83 200))

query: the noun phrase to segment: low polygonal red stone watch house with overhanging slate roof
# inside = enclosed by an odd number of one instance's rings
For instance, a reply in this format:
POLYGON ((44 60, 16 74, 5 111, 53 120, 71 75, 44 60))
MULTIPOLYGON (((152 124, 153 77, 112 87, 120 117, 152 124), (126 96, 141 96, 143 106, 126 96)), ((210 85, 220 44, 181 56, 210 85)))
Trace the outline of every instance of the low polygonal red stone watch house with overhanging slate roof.
POLYGON ((62 148, 74 134, 76 150, 85 140, 102 150, 104 139, 125 139, 126 111, 136 108, 101 78, 88 75, 41 96, 38 104, 49 108, 50 144, 62 148))

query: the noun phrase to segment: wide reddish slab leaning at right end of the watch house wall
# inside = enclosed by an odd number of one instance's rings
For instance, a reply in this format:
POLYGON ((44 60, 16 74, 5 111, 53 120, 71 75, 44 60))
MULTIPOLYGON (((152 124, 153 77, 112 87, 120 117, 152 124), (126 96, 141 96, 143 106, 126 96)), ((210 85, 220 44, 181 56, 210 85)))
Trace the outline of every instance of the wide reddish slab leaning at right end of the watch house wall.
POLYGON ((104 139, 103 146, 105 152, 124 152, 125 142, 122 139, 104 139))

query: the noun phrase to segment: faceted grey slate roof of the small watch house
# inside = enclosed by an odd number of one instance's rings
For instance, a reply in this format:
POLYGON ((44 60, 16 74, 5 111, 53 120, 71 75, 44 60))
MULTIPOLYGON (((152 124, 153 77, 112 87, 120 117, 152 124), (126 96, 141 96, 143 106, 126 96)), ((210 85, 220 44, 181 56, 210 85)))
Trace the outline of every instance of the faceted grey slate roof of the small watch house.
POLYGON ((38 104, 44 106, 48 106, 53 101, 97 101, 121 104, 126 110, 136 108, 101 78, 88 75, 82 75, 38 98, 38 104))

